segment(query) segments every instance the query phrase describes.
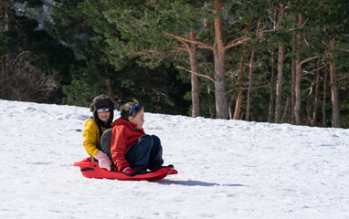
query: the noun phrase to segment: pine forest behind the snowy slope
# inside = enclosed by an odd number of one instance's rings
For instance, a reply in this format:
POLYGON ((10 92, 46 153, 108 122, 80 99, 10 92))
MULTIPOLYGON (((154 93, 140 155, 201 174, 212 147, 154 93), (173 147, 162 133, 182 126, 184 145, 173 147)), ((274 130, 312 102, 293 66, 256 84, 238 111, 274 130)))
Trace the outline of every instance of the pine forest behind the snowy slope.
POLYGON ((348 39, 345 0, 1 0, 0 99, 348 128, 348 39))

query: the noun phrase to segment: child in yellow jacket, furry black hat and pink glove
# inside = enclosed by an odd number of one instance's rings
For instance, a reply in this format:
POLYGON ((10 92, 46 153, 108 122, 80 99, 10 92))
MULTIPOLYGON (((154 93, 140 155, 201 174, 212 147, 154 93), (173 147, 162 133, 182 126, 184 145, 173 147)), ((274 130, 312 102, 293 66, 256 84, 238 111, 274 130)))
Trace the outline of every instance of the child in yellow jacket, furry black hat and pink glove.
POLYGON ((100 151, 99 141, 102 133, 105 130, 111 129, 111 123, 114 118, 115 105, 111 98, 107 95, 101 94, 93 99, 90 104, 90 111, 93 116, 86 120, 84 124, 83 145, 85 150, 98 160, 101 168, 111 171, 111 160, 108 155, 100 151))

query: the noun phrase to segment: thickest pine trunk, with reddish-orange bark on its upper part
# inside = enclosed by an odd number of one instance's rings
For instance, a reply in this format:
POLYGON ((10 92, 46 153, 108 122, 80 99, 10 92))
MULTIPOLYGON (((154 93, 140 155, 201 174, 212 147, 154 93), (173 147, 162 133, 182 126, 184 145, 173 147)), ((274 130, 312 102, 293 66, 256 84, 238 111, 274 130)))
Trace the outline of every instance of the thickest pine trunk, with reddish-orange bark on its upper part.
POLYGON ((214 1, 215 45, 213 54, 215 57, 215 98, 217 119, 228 119, 227 115, 227 90, 225 75, 226 48, 223 42, 223 16, 217 15, 223 9, 223 4, 214 1))

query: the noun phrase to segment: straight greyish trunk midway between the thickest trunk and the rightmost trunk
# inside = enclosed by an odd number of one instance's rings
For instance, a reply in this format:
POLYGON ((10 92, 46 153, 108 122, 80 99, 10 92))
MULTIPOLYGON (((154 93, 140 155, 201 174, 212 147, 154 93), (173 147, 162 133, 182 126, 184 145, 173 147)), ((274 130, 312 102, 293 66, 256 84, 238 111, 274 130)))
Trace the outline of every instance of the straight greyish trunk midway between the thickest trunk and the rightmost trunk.
MULTIPOLYGON (((285 5, 280 4, 280 22, 283 20, 285 13, 285 5)), ((281 121, 281 104, 282 104, 282 84, 283 84, 283 57, 284 57, 284 45, 279 46, 278 55, 278 81, 276 83, 276 102, 275 102, 275 122, 281 121)))

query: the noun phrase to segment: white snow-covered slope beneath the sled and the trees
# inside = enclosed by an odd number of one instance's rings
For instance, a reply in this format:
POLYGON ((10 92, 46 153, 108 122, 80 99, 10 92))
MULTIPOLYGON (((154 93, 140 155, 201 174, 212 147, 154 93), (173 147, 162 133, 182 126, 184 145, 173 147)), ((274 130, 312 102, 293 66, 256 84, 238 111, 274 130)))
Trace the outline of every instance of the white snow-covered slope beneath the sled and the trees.
POLYGON ((88 108, 0 111, 0 218, 349 218, 347 129, 145 113, 179 173, 122 182, 73 166, 88 108))

